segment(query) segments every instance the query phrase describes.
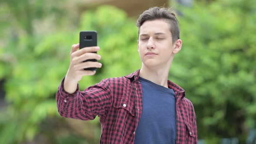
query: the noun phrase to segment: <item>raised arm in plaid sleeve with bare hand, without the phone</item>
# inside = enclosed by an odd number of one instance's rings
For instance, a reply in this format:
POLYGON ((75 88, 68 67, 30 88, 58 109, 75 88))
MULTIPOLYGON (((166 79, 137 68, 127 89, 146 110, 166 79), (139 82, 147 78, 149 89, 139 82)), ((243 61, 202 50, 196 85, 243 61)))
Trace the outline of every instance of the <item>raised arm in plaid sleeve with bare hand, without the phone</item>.
POLYGON ((78 82, 83 76, 94 75, 95 71, 85 68, 102 66, 99 62, 88 59, 101 59, 97 52, 99 47, 79 49, 79 44, 73 45, 70 52, 70 64, 65 78, 62 80, 56 94, 59 114, 66 118, 92 120, 95 116, 106 111, 111 104, 111 86, 107 80, 79 91, 78 82))

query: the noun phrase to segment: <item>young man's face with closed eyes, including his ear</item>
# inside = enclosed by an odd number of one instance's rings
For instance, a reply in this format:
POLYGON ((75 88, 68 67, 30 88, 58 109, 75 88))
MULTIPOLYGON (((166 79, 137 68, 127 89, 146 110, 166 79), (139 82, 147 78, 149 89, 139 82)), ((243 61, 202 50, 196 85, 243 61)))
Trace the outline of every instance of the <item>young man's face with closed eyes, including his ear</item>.
POLYGON ((170 67, 182 42, 179 39, 172 43, 169 24, 165 20, 146 21, 139 32, 138 52, 143 65, 153 69, 170 67))

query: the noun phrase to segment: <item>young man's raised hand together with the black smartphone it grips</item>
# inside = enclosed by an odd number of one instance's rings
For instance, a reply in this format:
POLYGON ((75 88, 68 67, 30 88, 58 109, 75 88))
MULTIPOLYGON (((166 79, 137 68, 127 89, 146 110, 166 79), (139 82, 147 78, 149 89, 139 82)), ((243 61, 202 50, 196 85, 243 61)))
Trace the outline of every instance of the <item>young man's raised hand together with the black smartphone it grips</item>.
POLYGON ((64 79, 64 90, 70 94, 76 91, 77 83, 83 76, 94 75, 96 72, 94 69, 102 67, 102 64, 97 62, 97 60, 101 59, 101 56, 97 54, 99 47, 95 38, 97 36, 90 35, 90 33, 80 33, 81 44, 72 45, 69 69, 64 79), (87 39, 92 40, 84 40, 86 39, 85 36, 87 39))

